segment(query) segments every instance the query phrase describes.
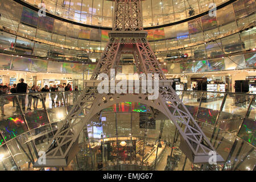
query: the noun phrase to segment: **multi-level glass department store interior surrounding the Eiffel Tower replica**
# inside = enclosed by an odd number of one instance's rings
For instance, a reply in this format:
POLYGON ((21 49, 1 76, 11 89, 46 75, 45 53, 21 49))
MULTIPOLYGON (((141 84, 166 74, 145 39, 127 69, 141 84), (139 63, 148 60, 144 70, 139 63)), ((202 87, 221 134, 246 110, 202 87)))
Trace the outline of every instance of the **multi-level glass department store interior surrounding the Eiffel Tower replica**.
MULTIPOLYGON (((193 162, 181 150, 180 123, 126 100, 91 116, 67 166, 33 167, 103 59, 116 1, 0 0, 0 85, 8 86, 0 95, 0 170, 254 171, 255 0, 131 0, 141 3, 143 31, 160 70, 222 162, 193 162), (20 78, 27 93, 11 94, 20 78), (28 91, 63 84, 71 90, 28 91)), ((117 73, 141 73, 137 57, 122 53, 117 73)))

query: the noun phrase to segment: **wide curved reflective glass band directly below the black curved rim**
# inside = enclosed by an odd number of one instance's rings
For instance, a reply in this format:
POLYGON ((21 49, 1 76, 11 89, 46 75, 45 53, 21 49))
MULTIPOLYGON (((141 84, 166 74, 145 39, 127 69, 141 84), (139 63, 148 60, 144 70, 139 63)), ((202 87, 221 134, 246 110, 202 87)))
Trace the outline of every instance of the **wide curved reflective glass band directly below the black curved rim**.
MULTIPOLYGON (((255 1, 246 3, 239 0, 222 7, 217 17, 207 14, 146 30, 147 39, 160 61, 202 60, 251 50, 255 48, 255 1)), ((36 11, 11 0, 1 1, 0 10, 2 52, 68 61, 87 60, 89 56, 94 62, 100 59, 109 39, 109 30, 39 17, 36 11)))

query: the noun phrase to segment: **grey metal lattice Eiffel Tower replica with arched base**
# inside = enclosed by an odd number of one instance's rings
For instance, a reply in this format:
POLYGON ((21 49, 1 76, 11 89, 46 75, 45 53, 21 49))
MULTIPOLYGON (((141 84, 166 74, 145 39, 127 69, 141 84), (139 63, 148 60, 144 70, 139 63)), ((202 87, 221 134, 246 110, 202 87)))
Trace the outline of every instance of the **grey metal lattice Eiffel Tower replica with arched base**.
MULTIPOLYGON (((159 97, 148 100, 148 93, 100 94, 97 86, 86 86, 48 146, 46 164, 36 162, 34 167, 67 166, 77 154, 79 134, 90 118, 106 107, 126 101, 141 102, 165 114, 180 132, 180 148, 184 154, 193 163, 208 163, 209 151, 215 150, 172 89, 170 80, 166 80, 146 36, 142 26, 141 0, 115 0, 113 31, 109 33, 109 42, 90 80, 97 82, 100 73, 110 77, 110 69, 117 72, 122 52, 131 52, 138 73, 159 74, 159 97)), ((222 161, 217 155, 217 162, 222 161)))

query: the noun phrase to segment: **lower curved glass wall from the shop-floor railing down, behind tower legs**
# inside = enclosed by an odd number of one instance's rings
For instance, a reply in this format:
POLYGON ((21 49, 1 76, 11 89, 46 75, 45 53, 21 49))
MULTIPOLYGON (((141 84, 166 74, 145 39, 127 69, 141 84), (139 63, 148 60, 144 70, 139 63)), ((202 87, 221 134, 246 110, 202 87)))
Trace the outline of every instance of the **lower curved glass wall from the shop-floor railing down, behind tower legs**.
MULTIPOLYGON (((157 110, 153 119, 151 108, 142 103, 123 102, 102 110, 100 120, 91 119, 87 123, 79 137, 79 153, 68 167, 60 170, 129 170, 134 166, 167 171, 253 170, 256 164, 255 95, 179 93, 225 163, 192 164, 179 149, 179 133, 171 121, 157 110), (214 98, 207 97, 208 94, 214 98), (122 164, 126 166, 121 167, 122 164)), ((38 170, 32 168, 38 152, 47 150, 79 94, 0 96, 1 114, 4 114, 0 118, 0 170, 38 170)))

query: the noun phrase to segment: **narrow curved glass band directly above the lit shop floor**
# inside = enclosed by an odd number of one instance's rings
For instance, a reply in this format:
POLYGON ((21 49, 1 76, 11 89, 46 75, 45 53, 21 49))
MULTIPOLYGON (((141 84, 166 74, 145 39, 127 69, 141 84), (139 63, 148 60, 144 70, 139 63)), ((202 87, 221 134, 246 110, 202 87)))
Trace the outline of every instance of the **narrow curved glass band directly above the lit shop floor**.
MULTIPOLYGON (((167 63, 161 64, 160 67, 166 75, 253 69, 256 67, 255 53, 232 56, 232 60, 225 57, 200 61, 185 61, 183 63, 167 63)), ((45 73, 72 73, 80 76, 84 75, 84 79, 88 80, 95 68, 96 64, 57 62, 0 53, 0 69, 45 73)), ((118 72, 133 74, 137 73, 137 68, 134 64, 119 65, 118 72)))

